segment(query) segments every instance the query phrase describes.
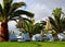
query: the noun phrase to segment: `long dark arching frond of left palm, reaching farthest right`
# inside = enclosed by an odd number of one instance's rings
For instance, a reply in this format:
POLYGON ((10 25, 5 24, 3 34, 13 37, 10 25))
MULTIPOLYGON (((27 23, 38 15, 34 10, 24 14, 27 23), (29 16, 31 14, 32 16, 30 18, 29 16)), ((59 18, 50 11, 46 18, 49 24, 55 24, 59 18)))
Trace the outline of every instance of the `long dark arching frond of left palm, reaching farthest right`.
POLYGON ((17 10, 17 11, 13 12, 10 17, 20 16, 20 15, 23 15, 23 14, 25 14, 25 15, 27 15, 29 17, 34 17, 34 14, 32 13, 27 12, 27 11, 24 11, 24 10, 17 10))

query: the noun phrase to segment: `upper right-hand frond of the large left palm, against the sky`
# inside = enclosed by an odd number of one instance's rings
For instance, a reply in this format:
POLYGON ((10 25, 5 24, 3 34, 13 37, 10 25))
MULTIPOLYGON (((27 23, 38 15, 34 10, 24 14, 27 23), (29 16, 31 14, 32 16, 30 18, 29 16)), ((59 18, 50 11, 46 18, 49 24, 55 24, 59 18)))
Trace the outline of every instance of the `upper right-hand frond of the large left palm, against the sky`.
POLYGON ((9 13, 11 14, 11 13, 13 13, 16 9, 18 9, 18 8, 21 8, 21 7, 25 7, 25 5, 26 5, 25 2, 15 2, 15 3, 13 3, 13 4, 11 5, 9 13))

